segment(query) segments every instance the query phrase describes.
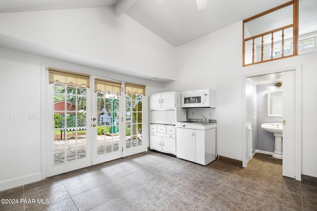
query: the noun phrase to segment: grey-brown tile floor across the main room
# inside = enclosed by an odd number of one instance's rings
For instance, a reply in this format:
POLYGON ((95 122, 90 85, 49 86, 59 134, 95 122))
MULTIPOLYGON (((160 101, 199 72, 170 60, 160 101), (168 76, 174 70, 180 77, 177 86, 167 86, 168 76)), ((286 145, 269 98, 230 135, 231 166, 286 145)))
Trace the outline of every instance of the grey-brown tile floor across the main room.
POLYGON ((18 199, 1 211, 314 211, 317 187, 283 177, 269 155, 240 168, 145 152, 2 191, 0 199, 18 199))

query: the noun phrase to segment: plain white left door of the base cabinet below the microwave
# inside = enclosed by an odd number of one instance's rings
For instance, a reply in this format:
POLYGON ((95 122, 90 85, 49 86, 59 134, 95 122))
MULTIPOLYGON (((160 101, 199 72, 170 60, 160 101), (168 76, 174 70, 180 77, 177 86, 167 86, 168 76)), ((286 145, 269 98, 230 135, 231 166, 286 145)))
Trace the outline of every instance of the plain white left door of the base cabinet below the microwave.
POLYGON ((176 156, 195 162, 195 129, 176 128, 176 156))

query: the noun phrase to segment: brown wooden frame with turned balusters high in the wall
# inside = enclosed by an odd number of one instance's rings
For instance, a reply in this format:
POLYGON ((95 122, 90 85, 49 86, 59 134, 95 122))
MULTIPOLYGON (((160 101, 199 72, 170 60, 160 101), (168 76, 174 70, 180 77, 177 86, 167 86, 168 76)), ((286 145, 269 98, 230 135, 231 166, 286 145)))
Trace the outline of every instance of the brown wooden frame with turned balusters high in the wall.
MULTIPOLYGON (((255 15, 255 16, 252 16, 250 18, 247 18, 245 20, 242 21, 242 33, 243 33, 243 52, 242 52, 242 64, 243 64, 243 67, 244 66, 249 66, 249 65, 254 65, 254 64, 259 64, 259 63, 264 63, 264 62, 269 62, 269 61, 273 61, 273 60, 278 60, 278 59, 284 59, 284 58, 288 58, 288 57, 292 57, 292 56, 297 56, 298 55, 298 25, 299 25, 299 18, 298 18, 298 1, 299 0, 291 0, 291 1, 288 1, 284 4, 281 4, 279 6, 276 6, 272 9, 269 9, 269 10, 266 10, 258 15, 255 15), (268 32, 264 32, 264 33, 261 33, 259 35, 256 35, 256 36, 252 36, 252 37, 249 37, 249 38, 244 38, 244 26, 245 26, 245 23, 248 22, 248 21, 251 21, 251 20, 254 20, 256 18, 259 18, 261 16, 264 16, 266 14, 269 14, 271 12, 274 12, 276 10, 279 10, 279 9, 282 9, 284 7, 287 7, 287 6, 290 6, 290 5, 293 5, 293 24, 290 24, 290 25, 287 25, 287 26, 284 26, 284 27, 281 27, 281 28, 278 28, 278 29, 274 29, 274 30, 271 30, 271 31, 268 31, 268 32), (284 38, 282 38, 282 56, 281 57, 278 57, 278 58, 273 58, 273 56, 271 55, 271 58, 270 59, 267 59, 267 60, 264 60, 263 59, 263 53, 264 53, 264 45, 263 45, 263 37, 264 35, 269 35, 271 34, 273 36, 273 33, 274 32, 277 32, 277 31, 282 31, 283 33, 283 30, 284 29, 288 29, 288 28, 291 28, 293 27, 293 54, 292 55, 287 55, 287 56, 284 56, 284 38), (262 37, 262 47, 261 47, 261 61, 259 62, 254 62, 254 40, 256 38, 261 38, 262 37), (253 50, 252 50, 252 63, 250 64, 245 64, 245 42, 247 41, 250 41, 250 40, 253 40, 253 50)), ((271 42, 271 48, 273 46, 273 40, 271 42)))

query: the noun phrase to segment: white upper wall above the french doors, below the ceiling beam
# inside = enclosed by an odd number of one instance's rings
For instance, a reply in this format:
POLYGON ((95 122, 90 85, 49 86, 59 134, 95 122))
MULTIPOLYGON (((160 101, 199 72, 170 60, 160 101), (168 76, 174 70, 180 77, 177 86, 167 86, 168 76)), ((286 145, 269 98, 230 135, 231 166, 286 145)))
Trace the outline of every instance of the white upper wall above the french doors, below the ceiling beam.
POLYGON ((78 63, 102 62, 111 71, 176 76, 175 48, 129 16, 114 16, 113 7, 1 13, 0 34, 77 55, 78 63))

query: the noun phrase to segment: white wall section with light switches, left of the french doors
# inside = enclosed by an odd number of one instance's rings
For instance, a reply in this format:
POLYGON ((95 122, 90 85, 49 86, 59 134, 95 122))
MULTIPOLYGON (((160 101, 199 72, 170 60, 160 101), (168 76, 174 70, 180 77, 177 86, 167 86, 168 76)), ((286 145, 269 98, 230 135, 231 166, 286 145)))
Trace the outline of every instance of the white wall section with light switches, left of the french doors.
POLYGON ((0 48, 0 190, 16 186, 12 178, 41 178, 41 122, 29 120, 30 112, 41 111, 41 63, 5 51, 0 48), (10 112, 17 120, 10 120, 10 112))

